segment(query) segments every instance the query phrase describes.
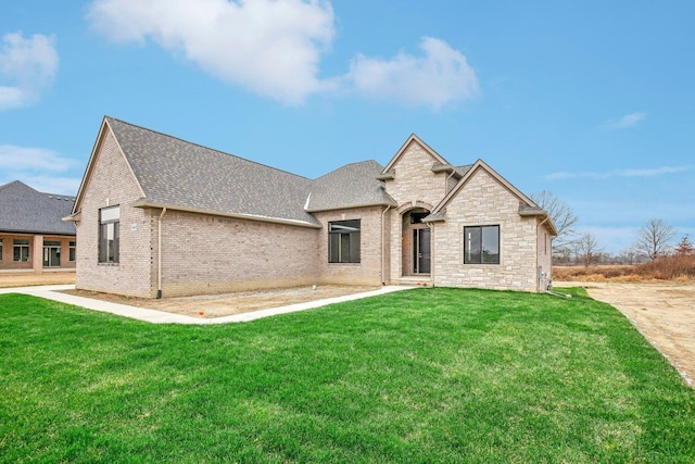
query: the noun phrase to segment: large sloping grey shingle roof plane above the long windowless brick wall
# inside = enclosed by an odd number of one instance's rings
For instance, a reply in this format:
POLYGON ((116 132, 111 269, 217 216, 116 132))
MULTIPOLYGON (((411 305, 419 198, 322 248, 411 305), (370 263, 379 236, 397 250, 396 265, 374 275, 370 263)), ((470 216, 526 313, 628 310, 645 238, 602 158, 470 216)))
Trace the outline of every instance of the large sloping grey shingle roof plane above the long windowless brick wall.
POLYGON ((303 206, 312 180, 112 117, 138 180, 138 205, 317 226, 303 206))

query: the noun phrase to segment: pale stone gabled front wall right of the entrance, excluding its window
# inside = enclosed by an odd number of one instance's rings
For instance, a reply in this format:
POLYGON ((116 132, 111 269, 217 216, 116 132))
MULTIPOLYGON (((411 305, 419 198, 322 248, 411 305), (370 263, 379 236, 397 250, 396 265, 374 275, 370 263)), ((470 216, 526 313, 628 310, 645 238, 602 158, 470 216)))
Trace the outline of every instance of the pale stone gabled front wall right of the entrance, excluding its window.
POLYGON ((519 199, 478 170, 434 226, 434 285, 536 291, 538 218, 518 211, 519 199), (464 226, 479 225, 500 225, 500 264, 464 264, 464 226))

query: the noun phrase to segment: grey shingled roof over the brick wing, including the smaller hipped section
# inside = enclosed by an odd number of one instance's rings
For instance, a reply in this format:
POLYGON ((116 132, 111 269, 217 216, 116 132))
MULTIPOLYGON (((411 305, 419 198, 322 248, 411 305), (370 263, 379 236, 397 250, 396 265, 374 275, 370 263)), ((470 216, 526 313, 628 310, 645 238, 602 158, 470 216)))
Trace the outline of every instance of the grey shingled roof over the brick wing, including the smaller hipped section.
POLYGON ((376 161, 313 180, 113 117, 104 123, 144 193, 136 205, 318 227, 313 211, 393 203, 376 161))

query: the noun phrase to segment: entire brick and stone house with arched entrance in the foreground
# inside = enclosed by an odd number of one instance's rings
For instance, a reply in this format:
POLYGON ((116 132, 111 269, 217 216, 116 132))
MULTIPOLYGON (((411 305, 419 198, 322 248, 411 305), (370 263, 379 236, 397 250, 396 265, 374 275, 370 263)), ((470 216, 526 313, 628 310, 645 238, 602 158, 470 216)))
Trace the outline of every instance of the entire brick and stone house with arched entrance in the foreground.
POLYGON ((75 206, 77 288, 173 297, 313 284, 538 291, 552 221, 482 161, 412 135, 308 179, 112 117, 75 206))

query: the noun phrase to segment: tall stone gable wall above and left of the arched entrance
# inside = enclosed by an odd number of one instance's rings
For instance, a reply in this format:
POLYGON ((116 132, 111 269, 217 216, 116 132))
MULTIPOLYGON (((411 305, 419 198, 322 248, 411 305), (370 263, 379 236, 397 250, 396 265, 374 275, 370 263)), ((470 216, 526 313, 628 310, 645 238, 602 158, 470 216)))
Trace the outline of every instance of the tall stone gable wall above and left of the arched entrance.
POLYGON ((397 280, 403 275, 403 213, 412 208, 431 210, 448 191, 446 173, 432 172, 434 162, 437 160, 414 141, 396 160, 394 178, 386 181, 386 191, 399 204, 397 209, 387 213, 391 256, 390 280, 387 284, 397 280))

